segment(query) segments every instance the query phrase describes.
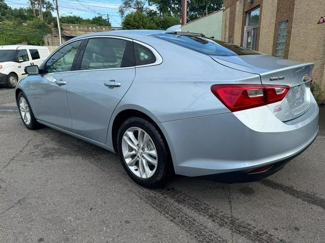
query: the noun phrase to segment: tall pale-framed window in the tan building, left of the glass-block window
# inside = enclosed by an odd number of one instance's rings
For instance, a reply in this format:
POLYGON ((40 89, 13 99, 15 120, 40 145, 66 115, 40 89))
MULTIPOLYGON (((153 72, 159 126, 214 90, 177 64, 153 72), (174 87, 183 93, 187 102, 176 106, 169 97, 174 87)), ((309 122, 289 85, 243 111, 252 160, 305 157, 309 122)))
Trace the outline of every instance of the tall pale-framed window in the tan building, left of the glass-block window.
POLYGON ((244 47, 256 50, 257 28, 259 20, 259 7, 247 12, 244 32, 244 47))

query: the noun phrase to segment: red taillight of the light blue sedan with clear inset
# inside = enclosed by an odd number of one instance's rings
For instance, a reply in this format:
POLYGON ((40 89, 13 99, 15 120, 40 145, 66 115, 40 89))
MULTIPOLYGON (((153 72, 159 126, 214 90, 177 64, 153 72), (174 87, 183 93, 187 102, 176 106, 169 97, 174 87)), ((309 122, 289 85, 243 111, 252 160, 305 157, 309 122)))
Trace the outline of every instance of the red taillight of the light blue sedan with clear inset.
POLYGON ((282 85, 211 86, 211 92, 233 112, 281 101, 289 89, 282 85))

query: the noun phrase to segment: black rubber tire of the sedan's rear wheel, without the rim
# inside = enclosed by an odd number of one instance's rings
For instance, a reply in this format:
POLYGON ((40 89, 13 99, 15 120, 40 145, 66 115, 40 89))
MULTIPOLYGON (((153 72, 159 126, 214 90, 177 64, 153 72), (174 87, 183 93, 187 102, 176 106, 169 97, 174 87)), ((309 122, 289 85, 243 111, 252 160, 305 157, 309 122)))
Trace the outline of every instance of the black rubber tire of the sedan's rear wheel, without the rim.
POLYGON ((164 139, 162 138, 159 131, 144 118, 141 117, 131 117, 126 119, 117 134, 117 150, 118 155, 123 165, 123 168, 127 172, 127 174, 138 184, 148 187, 148 188, 156 188, 160 187, 168 180, 170 176, 170 156, 164 139), (154 146, 157 151, 157 168, 154 175, 148 179, 143 179, 135 174, 131 170, 129 170, 128 166, 125 163, 123 153, 122 153, 122 139, 125 131, 129 128, 137 127, 144 130, 152 139, 154 146))

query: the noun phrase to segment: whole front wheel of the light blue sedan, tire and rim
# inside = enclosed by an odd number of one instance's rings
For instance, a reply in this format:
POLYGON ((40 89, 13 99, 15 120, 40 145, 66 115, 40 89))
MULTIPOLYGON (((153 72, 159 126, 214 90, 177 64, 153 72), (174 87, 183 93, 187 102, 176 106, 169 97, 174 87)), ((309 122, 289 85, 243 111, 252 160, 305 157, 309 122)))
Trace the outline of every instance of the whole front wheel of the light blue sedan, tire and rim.
POLYGON ((36 120, 28 102, 28 99, 23 92, 20 92, 18 94, 17 104, 21 120, 26 128, 28 128, 29 130, 36 130, 43 127, 43 125, 38 123, 38 121, 36 120))

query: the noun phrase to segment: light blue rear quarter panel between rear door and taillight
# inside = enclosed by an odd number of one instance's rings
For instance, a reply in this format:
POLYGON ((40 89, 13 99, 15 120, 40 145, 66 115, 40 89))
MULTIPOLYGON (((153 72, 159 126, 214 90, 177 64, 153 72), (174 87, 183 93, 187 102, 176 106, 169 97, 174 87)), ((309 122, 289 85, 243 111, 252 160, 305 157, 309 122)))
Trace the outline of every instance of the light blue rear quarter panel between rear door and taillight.
POLYGON ((261 84, 258 75, 225 67, 207 55, 152 37, 145 42, 163 57, 163 63, 136 68, 132 86, 113 112, 108 138, 122 110, 139 110, 159 126, 164 121, 230 112, 210 91, 214 84, 261 84))

